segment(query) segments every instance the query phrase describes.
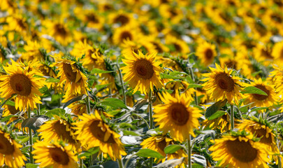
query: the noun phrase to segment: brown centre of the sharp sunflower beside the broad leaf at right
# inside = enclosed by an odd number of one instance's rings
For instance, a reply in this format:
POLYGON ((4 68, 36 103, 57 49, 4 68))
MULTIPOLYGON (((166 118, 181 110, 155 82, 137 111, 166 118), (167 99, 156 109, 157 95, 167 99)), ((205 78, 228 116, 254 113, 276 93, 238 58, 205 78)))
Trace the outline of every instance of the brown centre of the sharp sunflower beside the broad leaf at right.
POLYGON ((233 79, 226 73, 219 73, 216 76, 215 81, 217 83, 217 86, 222 90, 225 90, 226 92, 231 92, 234 90, 235 83, 233 79))

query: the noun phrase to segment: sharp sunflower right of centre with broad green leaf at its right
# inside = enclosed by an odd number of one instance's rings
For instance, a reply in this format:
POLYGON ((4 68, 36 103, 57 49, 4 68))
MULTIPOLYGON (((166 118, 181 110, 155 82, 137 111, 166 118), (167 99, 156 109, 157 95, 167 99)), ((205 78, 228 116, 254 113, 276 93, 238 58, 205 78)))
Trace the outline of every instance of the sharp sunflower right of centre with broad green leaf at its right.
POLYGON ((238 76, 231 76, 232 69, 228 71, 227 67, 222 69, 218 64, 215 64, 216 69, 210 68, 211 73, 204 73, 203 90, 206 90, 211 99, 215 101, 228 99, 229 103, 239 103, 242 98, 240 94, 240 78, 238 76))

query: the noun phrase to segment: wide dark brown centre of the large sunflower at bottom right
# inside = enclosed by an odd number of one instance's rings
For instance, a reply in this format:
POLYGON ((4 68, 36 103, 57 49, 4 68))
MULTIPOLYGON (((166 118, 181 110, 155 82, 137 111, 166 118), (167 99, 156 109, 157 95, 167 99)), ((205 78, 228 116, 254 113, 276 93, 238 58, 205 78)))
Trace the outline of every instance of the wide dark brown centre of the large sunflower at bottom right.
POLYGON ((233 158, 240 162, 252 162, 257 156, 257 150, 252 147, 249 141, 226 141, 226 148, 233 158))

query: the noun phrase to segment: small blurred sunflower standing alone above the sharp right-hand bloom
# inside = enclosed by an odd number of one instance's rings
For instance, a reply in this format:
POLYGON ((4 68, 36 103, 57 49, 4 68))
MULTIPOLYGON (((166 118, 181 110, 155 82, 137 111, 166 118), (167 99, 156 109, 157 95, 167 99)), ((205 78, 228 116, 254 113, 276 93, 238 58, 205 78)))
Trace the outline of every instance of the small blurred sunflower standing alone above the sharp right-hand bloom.
POLYGON ((196 56, 198 56, 198 59, 201 59, 202 64, 208 66, 212 64, 217 55, 215 48, 215 45, 202 41, 196 48, 196 56))

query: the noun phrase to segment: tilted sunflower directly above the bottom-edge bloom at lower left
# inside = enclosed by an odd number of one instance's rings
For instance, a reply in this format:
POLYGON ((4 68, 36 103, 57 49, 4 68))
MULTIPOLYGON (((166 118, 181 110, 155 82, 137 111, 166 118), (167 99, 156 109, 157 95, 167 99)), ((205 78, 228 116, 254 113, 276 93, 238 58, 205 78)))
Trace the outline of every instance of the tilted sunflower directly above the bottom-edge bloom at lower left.
POLYGON ((41 125, 38 132, 44 141, 64 141, 78 150, 79 143, 75 139, 75 130, 71 129, 71 123, 55 116, 55 120, 50 120, 41 125))

